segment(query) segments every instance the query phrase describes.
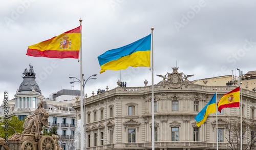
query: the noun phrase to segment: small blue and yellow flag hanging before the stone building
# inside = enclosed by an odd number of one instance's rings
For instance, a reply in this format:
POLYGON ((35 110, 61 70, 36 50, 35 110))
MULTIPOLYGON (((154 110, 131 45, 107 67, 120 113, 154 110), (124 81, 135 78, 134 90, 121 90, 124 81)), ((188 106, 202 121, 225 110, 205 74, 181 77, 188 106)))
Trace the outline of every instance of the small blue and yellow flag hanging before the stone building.
POLYGON ((199 112, 195 117, 198 127, 205 122, 210 113, 216 113, 216 93, 214 94, 214 96, 212 96, 207 105, 204 106, 202 111, 199 112))

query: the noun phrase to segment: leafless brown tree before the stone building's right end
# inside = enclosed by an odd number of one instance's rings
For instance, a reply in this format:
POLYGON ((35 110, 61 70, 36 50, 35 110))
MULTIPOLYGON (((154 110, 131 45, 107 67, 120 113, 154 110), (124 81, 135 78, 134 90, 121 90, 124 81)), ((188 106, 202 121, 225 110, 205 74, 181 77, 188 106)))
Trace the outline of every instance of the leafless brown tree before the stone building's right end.
MULTIPOLYGON (((225 139, 229 143, 231 150, 240 149, 240 117, 229 116, 227 117, 226 130, 227 134, 225 139)), ((254 149, 256 144, 256 122, 254 119, 244 119, 242 121, 242 139, 247 142, 243 142, 243 149, 254 149)))

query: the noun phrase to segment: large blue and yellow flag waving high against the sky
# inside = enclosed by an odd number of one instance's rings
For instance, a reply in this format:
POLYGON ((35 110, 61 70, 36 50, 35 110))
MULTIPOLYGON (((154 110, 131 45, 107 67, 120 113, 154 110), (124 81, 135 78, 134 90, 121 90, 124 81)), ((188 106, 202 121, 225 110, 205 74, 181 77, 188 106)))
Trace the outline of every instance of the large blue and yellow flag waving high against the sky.
POLYGON ((150 67, 151 34, 132 44, 106 51, 98 56, 100 73, 105 70, 121 70, 129 66, 150 67))

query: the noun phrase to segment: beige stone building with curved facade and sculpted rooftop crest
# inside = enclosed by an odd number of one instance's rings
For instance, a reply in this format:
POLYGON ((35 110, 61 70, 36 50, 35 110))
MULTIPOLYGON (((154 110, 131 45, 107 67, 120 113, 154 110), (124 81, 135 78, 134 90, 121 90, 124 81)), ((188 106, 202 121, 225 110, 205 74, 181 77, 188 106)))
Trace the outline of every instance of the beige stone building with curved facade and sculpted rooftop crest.
MULTIPOLYGON (((218 89, 217 99, 220 100, 224 94, 237 88, 237 84, 208 85, 206 79, 203 79, 203 84, 196 84, 188 80, 193 75, 179 73, 178 68, 157 76, 162 81, 154 85, 155 149, 216 149, 216 132, 219 149, 229 148, 225 139, 225 119, 230 115, 239 116, 239 108, 226 108, 218 114, 218 131, 216 113, 210 114, 200 127, 196 125, 195 116, 215 94, 214 89, 218 89)), ((233 80, 233 76, 225 78, 233 80)), ((106 88, 105 92, 86 98, 88 150, 151 149, 152 86, 147 85, 146 80, 144 83, 144 87, 106 88)), ((242 89, 243 119, 254 119, 255 96, 252 90, 242 89)), ((78 112, 77 119, 80 119, 80 101, 76 102, 74 109, 78 112)), ((250 137, 250 133, 246 134, 250 137)), ((248 141, 246 138, 243 143, 248 141)))

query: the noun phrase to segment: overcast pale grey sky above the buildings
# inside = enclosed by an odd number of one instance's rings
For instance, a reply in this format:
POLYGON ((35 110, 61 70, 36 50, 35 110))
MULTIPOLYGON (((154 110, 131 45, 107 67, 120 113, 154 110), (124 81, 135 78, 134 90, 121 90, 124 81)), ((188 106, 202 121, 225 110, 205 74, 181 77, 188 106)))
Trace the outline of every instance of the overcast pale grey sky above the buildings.
MULTIPOLYGON (((146 67, 106 70, 99 74, 97 56, 130 44, 154 30, 154 83, 157 74, 195 74, 189 80, 230 75, 237 68, 256 70, 256 1, 4 1, 0 9, 0 99, 4 92, 14 98, 29 63, 36 73, 42 95, 71 89, 69 76, 80 78, 78 59, 27 56, 28 46, 79 26, 82 18, 82 61, 85 77, 97 74, 86 84, 91 96, 97 89, 151 85, 146 67)), ((238 76, 238 72, 234 72, 238 76)), ((80 84, 74 84, 80 90, 80 84)), ((2 100, 0 104, 2 103, 2 100)))

